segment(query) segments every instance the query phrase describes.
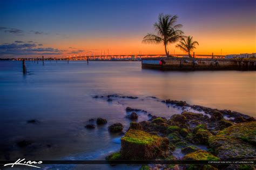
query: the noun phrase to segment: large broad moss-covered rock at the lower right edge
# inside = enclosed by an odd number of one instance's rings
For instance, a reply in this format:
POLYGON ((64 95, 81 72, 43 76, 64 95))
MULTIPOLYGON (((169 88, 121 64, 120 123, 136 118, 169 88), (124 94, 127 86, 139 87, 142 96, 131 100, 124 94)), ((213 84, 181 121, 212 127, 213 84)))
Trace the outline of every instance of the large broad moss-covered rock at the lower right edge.
POLYGON ((256 121, 240 123, 210 137, 208 143, 220 159, 250 159, 256 157, 256 121))

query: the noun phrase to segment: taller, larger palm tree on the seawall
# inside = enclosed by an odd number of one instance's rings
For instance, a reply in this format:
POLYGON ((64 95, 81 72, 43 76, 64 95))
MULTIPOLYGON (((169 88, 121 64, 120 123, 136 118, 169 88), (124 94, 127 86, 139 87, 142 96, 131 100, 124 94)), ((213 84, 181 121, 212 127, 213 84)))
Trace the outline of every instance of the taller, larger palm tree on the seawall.
POLYGON ((160 13, 158 17, 158 22, 154 23, 154 29, 157 32, 157 35, 147 33, 147 35, 143 38, 142 43, 164 43, 166 56, 169 57, 166 46, 168 44, 177 42, 179 39, 181 39, 181 37, 183 37, 183 31, 179 30, 183 25, 175 25, 177 19, 177 15, 171 16, 160 13))

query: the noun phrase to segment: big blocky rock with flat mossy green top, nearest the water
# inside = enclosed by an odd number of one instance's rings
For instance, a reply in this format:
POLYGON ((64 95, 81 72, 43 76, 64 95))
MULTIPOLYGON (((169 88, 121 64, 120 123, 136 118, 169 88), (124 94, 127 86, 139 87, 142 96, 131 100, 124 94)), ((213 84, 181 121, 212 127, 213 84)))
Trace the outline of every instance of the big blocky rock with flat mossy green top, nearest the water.
POLYGON ((121 138, 122 159, 153 160, 169 152, 169 140, 144 131, 129 130, 121 138))

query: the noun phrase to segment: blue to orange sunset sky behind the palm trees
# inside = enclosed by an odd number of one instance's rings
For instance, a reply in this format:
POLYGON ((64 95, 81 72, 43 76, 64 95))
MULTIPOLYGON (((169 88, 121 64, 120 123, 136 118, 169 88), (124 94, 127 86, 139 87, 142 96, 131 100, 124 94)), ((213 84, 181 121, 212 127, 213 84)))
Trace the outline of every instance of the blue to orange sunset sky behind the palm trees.
MULTIPOLYGON (((0 57, 163 54, 142 44, 159 13, 178 15, 197 54, 256 52, 256 1, 0 1, 0 57)), ((171 54, 184 52, 168 46, 171 54)))

